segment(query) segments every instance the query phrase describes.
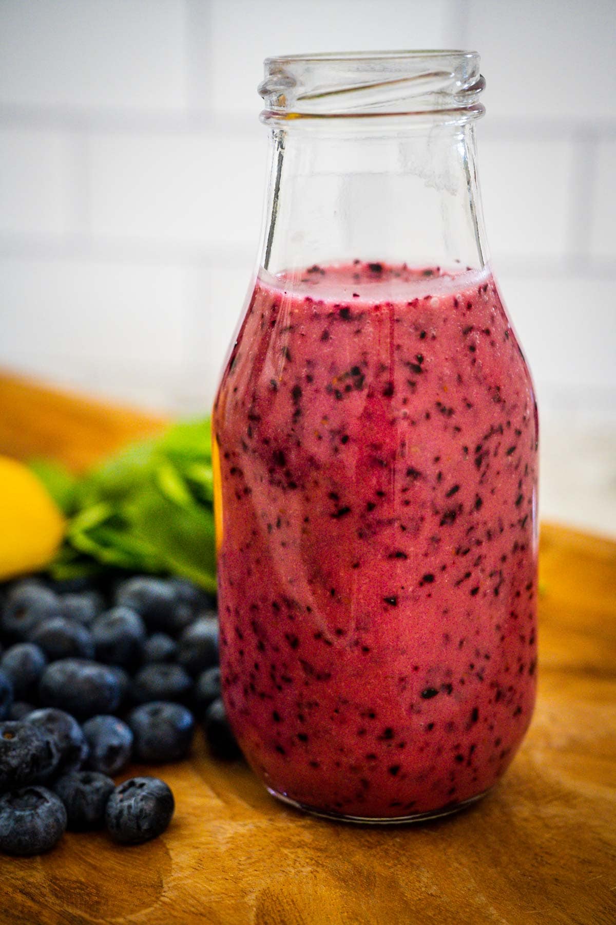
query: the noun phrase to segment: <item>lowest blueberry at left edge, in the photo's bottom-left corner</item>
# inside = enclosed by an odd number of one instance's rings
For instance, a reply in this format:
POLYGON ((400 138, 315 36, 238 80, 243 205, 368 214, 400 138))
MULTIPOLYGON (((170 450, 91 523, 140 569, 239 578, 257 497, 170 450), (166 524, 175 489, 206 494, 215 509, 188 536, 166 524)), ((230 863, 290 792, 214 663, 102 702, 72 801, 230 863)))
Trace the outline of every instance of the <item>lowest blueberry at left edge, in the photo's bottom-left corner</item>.
POLYGON ((40 855, 66 831, 62 800, 45 787, 0 796, 0 851, 8 855, 40 855))

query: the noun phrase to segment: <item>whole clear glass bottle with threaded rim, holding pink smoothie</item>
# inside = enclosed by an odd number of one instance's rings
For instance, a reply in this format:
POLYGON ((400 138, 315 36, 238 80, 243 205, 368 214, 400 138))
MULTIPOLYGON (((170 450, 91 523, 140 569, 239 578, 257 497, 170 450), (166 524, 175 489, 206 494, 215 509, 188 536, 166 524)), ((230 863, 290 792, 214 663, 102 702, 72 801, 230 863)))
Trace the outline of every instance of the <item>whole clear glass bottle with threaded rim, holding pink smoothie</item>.
POLYGON ((259 266, 214 404, 223 697, 272 795, 452 812, 535 700, 537 406, 467 52, 265 62, 259 266))

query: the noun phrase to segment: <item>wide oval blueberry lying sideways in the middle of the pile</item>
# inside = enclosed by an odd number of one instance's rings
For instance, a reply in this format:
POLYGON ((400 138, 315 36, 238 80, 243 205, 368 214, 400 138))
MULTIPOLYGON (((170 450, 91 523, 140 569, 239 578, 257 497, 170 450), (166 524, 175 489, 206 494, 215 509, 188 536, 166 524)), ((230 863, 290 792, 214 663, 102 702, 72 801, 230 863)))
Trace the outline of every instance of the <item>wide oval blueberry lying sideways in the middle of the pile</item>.
POLYGON ((66 709, 78 719, 113 713, 120 702, 120 685, 106 665, 82 659, 63 659, 42 674, 39 697, 45 707, 66 709))

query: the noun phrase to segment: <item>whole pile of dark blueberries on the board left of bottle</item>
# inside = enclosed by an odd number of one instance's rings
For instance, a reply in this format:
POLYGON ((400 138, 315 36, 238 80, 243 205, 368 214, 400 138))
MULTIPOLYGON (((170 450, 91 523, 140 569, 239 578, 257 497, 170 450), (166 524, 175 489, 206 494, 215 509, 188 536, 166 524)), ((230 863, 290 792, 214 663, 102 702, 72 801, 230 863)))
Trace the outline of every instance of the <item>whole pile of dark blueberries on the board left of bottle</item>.
POLYGON ((196 722, 239 757, 226 721, 215 600, 181 578, 0 588, 0 851, 40 854, 69 830, 160 835, 174 796, 131 761, 187 756, 196 722))

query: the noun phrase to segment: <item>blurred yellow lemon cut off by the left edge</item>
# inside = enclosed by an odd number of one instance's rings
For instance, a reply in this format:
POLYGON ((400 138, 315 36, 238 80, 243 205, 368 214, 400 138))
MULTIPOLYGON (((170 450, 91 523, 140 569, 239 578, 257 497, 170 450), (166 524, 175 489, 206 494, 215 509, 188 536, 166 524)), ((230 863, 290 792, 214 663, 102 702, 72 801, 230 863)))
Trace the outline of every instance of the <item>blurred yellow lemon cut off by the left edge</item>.
POLYGON ((0 581, 52 561, 64 529, 62 513, 36 475, 0 456, 0 581))

